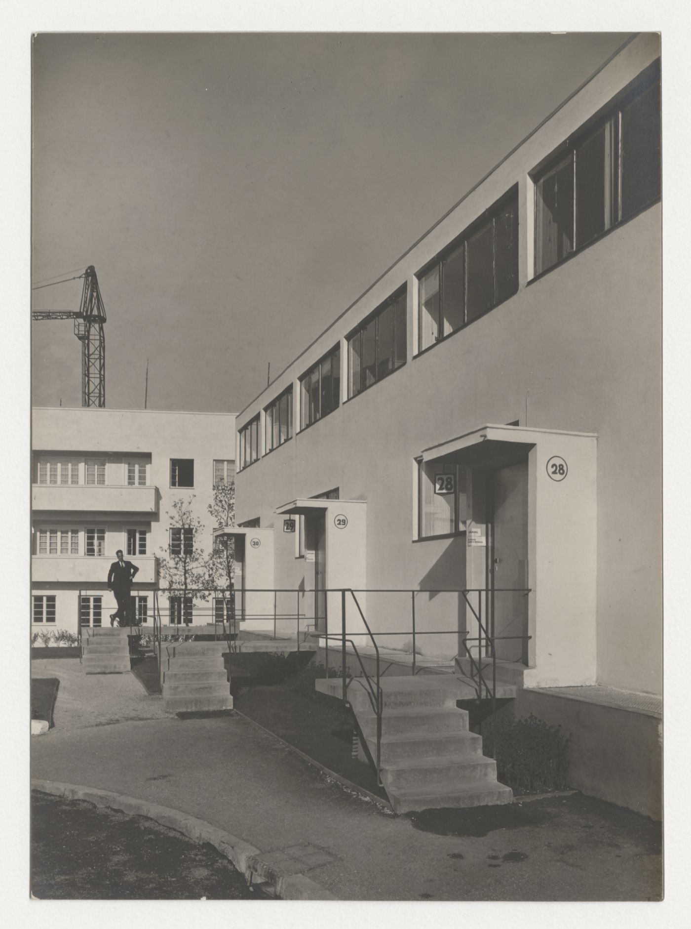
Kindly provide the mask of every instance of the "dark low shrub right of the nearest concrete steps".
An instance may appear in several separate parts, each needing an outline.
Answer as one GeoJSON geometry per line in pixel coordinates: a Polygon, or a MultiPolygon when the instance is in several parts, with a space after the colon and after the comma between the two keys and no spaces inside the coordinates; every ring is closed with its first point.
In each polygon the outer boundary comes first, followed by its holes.
{"type": "Polygon", "coordinates": [[[497,762],[502,783],[528,792],[563,791],[567,786],[571,738],[561,726],[550,726],[532,713],[527,718],[496,721],[496,744],[491,722],[483,751],[497,762]]]}

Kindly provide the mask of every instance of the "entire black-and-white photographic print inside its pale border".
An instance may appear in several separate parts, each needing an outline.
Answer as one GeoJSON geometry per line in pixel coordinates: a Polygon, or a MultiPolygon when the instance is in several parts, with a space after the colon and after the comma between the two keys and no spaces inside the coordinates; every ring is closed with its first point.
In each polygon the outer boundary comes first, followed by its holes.
{"type": "Polygon", "coordinates": [[[30,915],[664,900],[664,33],[428,28],[26,36],[30,915]]]}

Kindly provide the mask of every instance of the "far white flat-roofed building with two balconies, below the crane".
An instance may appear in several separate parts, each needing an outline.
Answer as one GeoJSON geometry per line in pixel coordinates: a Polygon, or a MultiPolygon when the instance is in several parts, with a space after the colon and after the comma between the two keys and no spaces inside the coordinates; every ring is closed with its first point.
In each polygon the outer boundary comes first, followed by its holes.
{"type": "Polygon", "coordinates": [[[119,548],[139,569],[137,622],[151,622],[158,557],[183,543],[166,511],[191,500],[205,527],[194,542],[211,550],[207,506],[215,484],[234,479],[234,427],[233,413],[34,409],[33,632],[75,633],[78,617],[83,626],[109,624],[108,570],[119,548]]]}

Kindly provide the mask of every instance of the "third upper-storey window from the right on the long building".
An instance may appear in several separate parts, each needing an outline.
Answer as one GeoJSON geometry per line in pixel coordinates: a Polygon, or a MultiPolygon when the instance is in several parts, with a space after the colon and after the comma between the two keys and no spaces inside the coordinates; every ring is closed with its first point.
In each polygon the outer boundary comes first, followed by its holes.
{"type": "Polygon", "coordinates": [[[348,398],[406,362],[406,288],[378,307],[348,335],[348,398]]]}

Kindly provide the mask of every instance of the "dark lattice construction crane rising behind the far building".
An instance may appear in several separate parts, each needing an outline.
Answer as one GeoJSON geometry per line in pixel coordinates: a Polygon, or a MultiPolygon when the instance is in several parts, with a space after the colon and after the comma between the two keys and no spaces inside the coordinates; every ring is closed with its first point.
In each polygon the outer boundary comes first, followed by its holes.
{"type": "MultiPolygon", "coordinates": [[[[54,284],[77,281],[81,278],[84,278],[84,286],[78,310],[36,309],[32,311],[32,319],[74,320],[74,334],[82,343],[82,406],[105,407],[106,340],[103,323],[106,321],[106,309],[98,289],[96,268],[89,265],[84,274],[68,278],[66,281],[42,284],[40,287],[52,287],[54,284]]],[[[34,287],[33,290],[39,290],[40,287],[34,287]]]]}

